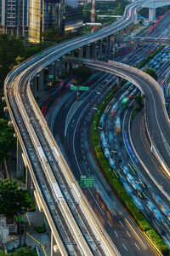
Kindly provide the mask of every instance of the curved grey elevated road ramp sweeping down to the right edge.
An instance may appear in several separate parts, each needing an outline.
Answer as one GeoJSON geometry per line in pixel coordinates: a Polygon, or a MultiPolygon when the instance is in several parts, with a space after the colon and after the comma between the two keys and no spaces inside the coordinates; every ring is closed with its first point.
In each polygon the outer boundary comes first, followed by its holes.
{"type": "MultiPolygon", "coordinates": [[[[67,60],[69,61],[69,59],[67,60]]],[[[71,60],[107,73],[114,73],[135,84],[145,96],[145,122],[152,142],[151,150],[160,159],[161,165],[170,176],[170,120],[160,85],[143,71],[116,61],[109,63],[91,60],[71,60]]]]}

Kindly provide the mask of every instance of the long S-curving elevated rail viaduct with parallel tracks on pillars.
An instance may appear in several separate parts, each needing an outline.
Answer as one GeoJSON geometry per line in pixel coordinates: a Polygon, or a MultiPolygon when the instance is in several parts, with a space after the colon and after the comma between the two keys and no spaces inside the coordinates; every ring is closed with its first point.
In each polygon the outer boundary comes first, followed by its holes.
{"type": "Polygon", "coordinates": [[[31,174],[37,205],[39,210],[44,212],[52,230],[54,252],[59,249],[62,255],[119,253],[89,207],[58,145],[54,142],[34,96],[37,90],[43,90],[43,69],[48,67],[48,72],[53,72],[54,76],[54,67],[62,69],[63,55],[77,49],[81,56],[82,47],[85,46],[88,56],[89,46],[92,45],[95,58],[96,42],[101,42],[104,38],[107,51],[111,52],[116,35],[130,26],[144,2],[146,1],[141,0],[130,4],[121,20],[99,32],[58,44],[31,57],[9,73],[4,83],[7,109],[22,148],[27,185],[31,187],[31,174]]]}

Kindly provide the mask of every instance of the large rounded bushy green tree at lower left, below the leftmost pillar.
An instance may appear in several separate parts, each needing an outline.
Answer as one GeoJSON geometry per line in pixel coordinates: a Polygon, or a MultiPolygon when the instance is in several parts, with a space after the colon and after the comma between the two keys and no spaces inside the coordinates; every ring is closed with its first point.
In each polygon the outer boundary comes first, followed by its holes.
{"type": "Polygon", "coordinates": [[[27,190],[19,188],[16,181],[3,179],[0,181],[0,214],[13,219],[14,215],[21,215],[30,207],[27,201],[27,190]]]}

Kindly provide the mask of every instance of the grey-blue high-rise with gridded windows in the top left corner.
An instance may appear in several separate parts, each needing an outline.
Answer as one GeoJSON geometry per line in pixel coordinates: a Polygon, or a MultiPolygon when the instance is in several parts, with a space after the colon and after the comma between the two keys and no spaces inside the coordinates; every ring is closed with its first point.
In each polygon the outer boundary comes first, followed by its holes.
{"type": "Polygon", "coordinates": [[[0,0],[0,32],[28,35],[29,0],[0,0]]]}

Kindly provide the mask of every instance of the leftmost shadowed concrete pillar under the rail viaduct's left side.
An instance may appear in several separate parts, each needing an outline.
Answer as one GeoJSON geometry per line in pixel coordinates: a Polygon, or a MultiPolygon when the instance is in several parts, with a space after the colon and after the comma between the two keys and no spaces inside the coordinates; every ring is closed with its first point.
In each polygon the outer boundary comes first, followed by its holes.
{"type": "Polygon", "coordinates": [[[24,176],[24,161],[22,159],[22,148],[20,147],[19,139],[17,138],[17,152],[16,152],[16,177],[24,176]]]}

